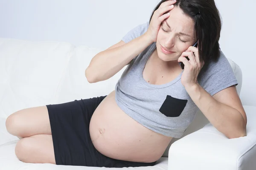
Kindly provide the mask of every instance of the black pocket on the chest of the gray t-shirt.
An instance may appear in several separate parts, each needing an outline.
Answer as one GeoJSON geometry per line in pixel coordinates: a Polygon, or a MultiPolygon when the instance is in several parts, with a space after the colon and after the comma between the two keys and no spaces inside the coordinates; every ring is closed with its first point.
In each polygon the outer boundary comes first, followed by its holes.
{"type": "Polygon", "coordinates": [[[159,111],[167,117],[178,117],[184,110],[187,102],[188,100],[176,99],[167,95],[159,111]]]}

